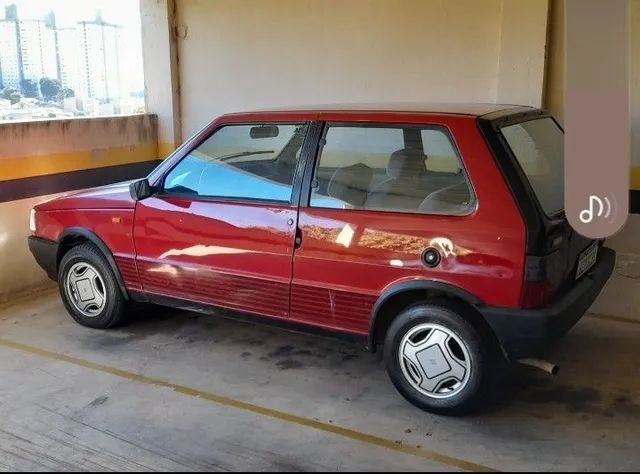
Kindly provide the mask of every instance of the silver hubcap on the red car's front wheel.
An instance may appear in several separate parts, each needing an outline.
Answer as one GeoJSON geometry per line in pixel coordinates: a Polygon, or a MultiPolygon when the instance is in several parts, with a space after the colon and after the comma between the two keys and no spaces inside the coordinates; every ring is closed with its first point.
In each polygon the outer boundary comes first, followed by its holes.
{"type": "Polygon", "coordinates": [[[107,303],[105,284],[90,264],[78,262],[67,273],[65,291],[69,301],[84,316],[98,316],[107,303]]]}

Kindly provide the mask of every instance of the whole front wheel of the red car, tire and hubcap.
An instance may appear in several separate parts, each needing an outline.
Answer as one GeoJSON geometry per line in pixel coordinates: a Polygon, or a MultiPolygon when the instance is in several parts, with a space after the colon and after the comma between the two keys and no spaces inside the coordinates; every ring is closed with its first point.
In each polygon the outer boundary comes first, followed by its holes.
{"type": "Polygon", "coordinates": [[[126,301],[104,255],[91,244],[69,250],[58,270],[69,314],[83,326],[106,329],[122,322],[126,301]]]}

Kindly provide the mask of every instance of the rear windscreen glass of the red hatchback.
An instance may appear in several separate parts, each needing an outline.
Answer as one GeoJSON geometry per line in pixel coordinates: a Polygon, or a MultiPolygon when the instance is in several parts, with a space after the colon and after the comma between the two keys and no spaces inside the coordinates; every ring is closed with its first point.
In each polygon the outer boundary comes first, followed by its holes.
{"type": "Polygon", "coordinates": [[[564,208],[564,132],[545,117],[501,128],[502,135],[551,216],[564,208]]]}

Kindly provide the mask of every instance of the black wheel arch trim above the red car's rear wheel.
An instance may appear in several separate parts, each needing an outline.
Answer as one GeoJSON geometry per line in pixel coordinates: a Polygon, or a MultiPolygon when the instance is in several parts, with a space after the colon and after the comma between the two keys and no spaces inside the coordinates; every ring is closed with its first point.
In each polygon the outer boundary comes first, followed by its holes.
{"type": "MultiPolygon", "coordinates": [[[[483,301],[474,294],[449,283],[433,280],[411,280],[395,283],[387,287],[373,305],[369,321],[367,349],[376,352],[378,343],[384,339],[384,334],[400,310],[413,301],[437,297],[451,298],[474,309],[483,304],[483,301]]],[[[478,315],[482,318],[479,312],[478,315]]],[[[482,319],[484,321],[484,318],[482,319]]]]}

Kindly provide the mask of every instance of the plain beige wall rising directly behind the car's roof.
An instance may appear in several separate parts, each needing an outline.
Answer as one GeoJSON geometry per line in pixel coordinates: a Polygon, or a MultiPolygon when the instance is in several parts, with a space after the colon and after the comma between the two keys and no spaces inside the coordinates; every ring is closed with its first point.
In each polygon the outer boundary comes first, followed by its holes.
{"type": "Polygon", "coordinates": [[[546,0],[175,1],[183,137],[271,106],[541,104],[546,0]]]}

